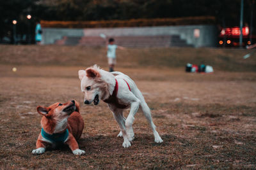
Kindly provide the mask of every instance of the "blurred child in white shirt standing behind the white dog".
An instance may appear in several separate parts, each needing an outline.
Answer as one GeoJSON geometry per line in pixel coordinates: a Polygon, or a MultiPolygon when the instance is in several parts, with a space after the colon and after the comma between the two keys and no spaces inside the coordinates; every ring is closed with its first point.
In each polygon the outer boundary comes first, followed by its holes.
{"type": "Polygon", "coordinates": [[[116,48],[120,50],[125,50],[123,46],[117,46],[114,44],[115,39],[109,38],[108,45],[107,45],[107,57],[108,57],[108,65],[109,65],[109,72],[114,71],[114,67],[116,64],[116,48]]]}

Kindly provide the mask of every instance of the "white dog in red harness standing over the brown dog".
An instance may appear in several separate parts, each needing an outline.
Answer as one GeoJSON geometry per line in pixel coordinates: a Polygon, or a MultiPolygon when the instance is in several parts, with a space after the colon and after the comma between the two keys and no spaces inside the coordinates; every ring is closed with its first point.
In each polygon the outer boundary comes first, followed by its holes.
{"type": "Polygon", "coordinates": [[[129,76],[120,72],[104,71],[94,65],[86,70],[79,70],[79,79],[81,80],[81,91],[84,93],[84,104],[94,103],[97,105],[100,100],[108,103],[110,110],[120,126],[118,137],[123,136],[124,148],[131,146],[130,141],[134,139],[132,123],[134,115],[141,108],[148,123],[152,127],[155,142],[162,143],[163,140],[156,131],[156,126],[152,122],[150,109],[145,103],[138,87],[129,76]],[[114,76],[113,74],[117,74],[114,76]],[[123,110],[131,107],[128,117],[125,119],[123,110]]]}

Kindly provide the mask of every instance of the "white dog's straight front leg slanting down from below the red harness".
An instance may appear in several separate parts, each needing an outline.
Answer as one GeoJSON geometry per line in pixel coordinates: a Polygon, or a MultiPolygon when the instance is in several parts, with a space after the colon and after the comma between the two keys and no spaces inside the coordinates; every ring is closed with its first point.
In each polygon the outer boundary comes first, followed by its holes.
{"type": "MultiPolygon", "coordinates": [[[[110,107],[109,107],[110,108],[110,107]]],[[[112,109],[111,109],[112,110],[112,109]]],[[[124,124],[124,121],[123,121],[123,116],[122,116],[122,110],[114,110],[113,111],[113,115],[115,117],[115,120],[116,122],[118,123],[120,129],[121,129],[121,132],[122,132],[122,136],[124,138],[124,143],[123,143],[123,147],[124,148],[128,148],[131,146],[131,143],[128,139],[128,136],[127,136],[127,132],[126,132],[126,129],[125,129],[125,124],[124,124]]]]}

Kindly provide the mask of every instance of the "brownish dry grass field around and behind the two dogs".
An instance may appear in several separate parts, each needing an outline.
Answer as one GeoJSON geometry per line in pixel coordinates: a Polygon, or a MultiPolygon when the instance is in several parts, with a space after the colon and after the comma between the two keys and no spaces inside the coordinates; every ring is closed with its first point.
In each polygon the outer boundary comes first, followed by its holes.
{"type": "MultiPolygon", "coordinates": [[[[256,56],[248,50],[132,48],[116,70],[138,85],[152,110],[154,136],[138,112],[135,139],[122,148],[106,103],[84,105],[77,71],[108,69],[104,48],[0,46],[0,169],[256,169],[256,56]],[[213,74],[185,73],[187,62],[213,74]],[[13,72],[12,67],[17,67],[13,72]],[[36,106],[76,99],[85,122],[74,156],[67,146],[32,155],[40,132],[36,106]]],[[[128,111],[125,112],[127,115],[128,111]]]]}

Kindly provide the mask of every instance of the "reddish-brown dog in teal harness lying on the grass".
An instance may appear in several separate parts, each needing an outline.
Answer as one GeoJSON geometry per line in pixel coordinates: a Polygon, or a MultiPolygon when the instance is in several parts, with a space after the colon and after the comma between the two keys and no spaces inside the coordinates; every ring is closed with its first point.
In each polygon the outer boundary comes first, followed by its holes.
{"type": "Polygon", "coordinates": [[[55,146],[65,143],[74,155],[83,155],[85,152],[79,150],[77,139],[82,135],[84,121],[79,113],[79,103],[68,101],[67,103],[54,103],[49,107],[38,106],[38,113],[42,115],[42,130],[36,141],[36,150],[33,154],[45,152],[47,144],[55,146]]]}

